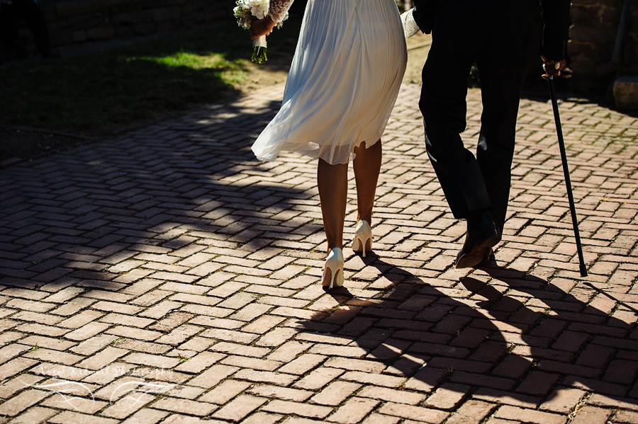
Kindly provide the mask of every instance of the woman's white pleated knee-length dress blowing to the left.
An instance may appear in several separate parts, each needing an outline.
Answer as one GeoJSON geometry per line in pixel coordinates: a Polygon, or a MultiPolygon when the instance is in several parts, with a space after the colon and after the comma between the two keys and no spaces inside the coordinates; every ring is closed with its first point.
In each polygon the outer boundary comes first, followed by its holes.
{"type": "Polygon", "coordinates": [[[381,138],[407,60],[395,0],[309,0],[281,109],[252,151],[347,164],[354,147],[381,138]]]}

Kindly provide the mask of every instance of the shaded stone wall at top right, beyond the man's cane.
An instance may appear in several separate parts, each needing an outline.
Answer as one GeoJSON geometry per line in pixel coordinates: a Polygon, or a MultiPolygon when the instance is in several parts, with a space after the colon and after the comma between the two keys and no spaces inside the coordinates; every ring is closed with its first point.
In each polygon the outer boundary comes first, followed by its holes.
{"type": "Polygon", "coordinates": [[[638,0],[631,1],[619,72],[599,75],[598,65],[612,57],[623,0],[572,0],[567,52],[574,90],[603,93],[618,74],[638,75],[638,0]]]}

